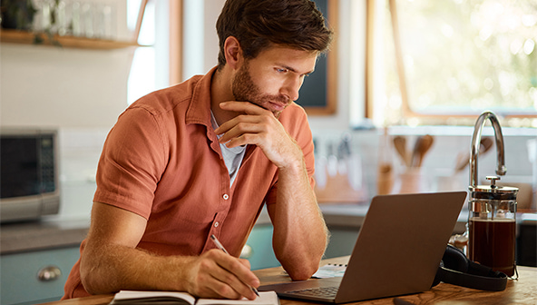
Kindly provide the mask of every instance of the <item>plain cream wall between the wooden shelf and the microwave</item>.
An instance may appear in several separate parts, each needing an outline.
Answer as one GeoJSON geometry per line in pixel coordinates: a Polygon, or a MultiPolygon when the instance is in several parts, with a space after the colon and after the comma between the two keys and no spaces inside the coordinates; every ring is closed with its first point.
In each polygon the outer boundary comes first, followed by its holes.
{"type": "Polygon", "coordinates": [[[3,126],[110,127],[127,105],[132,49],[2,44],[3,126]]]}

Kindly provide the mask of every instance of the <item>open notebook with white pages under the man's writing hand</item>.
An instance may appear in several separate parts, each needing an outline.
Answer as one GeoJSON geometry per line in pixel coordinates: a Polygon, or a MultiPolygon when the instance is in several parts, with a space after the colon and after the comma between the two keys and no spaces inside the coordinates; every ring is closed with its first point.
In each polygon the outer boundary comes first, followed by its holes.
{"type": "Polygon", "coordinates": [[[138,291],[122,290],[115,294],[111,305],[279,305],[278,295],[274,291],[259,292],[256,300],[220,300],[220,299],[198,299],[187,292],[177,291],[138,291]]]}

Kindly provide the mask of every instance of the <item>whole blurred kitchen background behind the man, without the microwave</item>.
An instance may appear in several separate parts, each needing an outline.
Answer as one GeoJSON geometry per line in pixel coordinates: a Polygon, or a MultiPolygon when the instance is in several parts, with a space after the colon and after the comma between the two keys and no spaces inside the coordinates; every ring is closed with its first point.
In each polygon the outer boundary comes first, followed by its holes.
{"type": "MultiPolygon", "coordinates": [[[[467,190],[474,123],[502,125],[517,196],[517,260],[537,265],[537,6],[534,0],[316,0],[336,31],[306,79],[317,199],[348,255],[378,193],[467,190]]],[[[89,226],[107,133],[139,97],[217,64],[224,0],[3,0],[0,128],[57,130],[60,210],[0,227],[2,304],[58,300],[89,226]],[[31,4],[15,20],[7,5],[31,4]],[[27,14],[26,14],[27,13],[27,14]],[[51,267],[52,266],[52,267],[51,267]]],[[[18,6],[17,6],[18,7],[18,6]]],[[[479,179],[494,175],[483,129],[479,179]]],[[[463,233],[464,211],[454,228],[463,233]]],[[[261,213],[242,257],[277,266],[261,213]]]]}

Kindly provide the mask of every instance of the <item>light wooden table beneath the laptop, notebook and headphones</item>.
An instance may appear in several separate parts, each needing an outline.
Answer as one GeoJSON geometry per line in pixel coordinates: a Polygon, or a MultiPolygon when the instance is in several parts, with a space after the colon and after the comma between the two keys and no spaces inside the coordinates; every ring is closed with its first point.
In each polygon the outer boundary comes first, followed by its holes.
{"type": "MultiPolygon", "coordinates": [[[[328,259],[322,262],[325,263],[346,263],[348,256],[328,259]]],[[[261,280],[261,284],[274,284],[284,281],[289,281],[289,277],[285,275],[281,267],[263,269],[254,271],[261,280]]],[[[507,287],[503,291],[483,291],[473,290],[454,286],[451,284],[440,283],[433,289],[397,298],[386,298],[378,300],[366,300],[349,304],[369,304],[369,305],[385,305],[385,304],[442,304],[442,305],[467,305],[467,304],[537,304],[537,268],[518,267],[519,280],[509,280],[507,287]],[[400,302],[395,303],[395,299],[400,302]]],[[[112,300],[113,295],[97,295],[87,298],[62,300],[46,303],[48,305],[103,305],[108,304],[112,300]]],[[[310,303],[298,300],[280,300],[281,305],[306,305],[319,304],[310,303]]]]}

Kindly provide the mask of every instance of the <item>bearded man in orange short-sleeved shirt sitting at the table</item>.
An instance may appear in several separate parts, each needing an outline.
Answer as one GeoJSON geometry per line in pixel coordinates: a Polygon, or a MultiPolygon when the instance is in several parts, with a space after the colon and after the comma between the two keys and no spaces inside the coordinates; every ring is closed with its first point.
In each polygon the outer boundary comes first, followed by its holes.
{"type": "Polygon", "coordinates": [[[64,299],[118,290],[254,299],[259,279],[238,257],[265,203],[289,276],[317,271],[327,229],[311,132],[293,101],[332,33],[308,0],[228,0],[217,30],[217,67],[132,103],[109,133],[64,299]]]}

